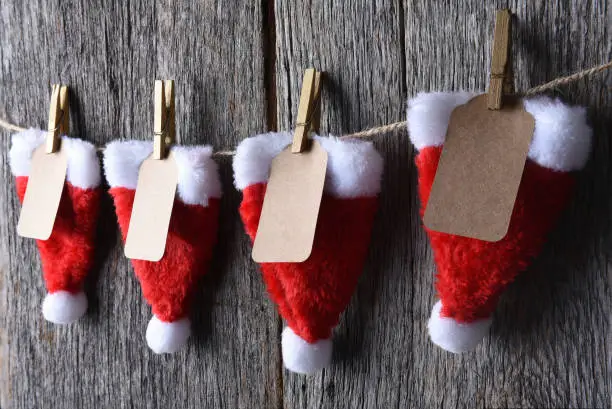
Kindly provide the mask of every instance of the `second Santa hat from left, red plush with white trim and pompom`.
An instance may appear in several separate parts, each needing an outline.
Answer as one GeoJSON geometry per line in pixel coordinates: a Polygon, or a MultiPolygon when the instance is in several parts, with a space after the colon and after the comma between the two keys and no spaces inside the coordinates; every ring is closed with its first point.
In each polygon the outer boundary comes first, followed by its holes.
{"type": "MultiPolygon", "coordinates": [[[[121,235],[127,237],[142,162],[150,142],[112,142],[104,172],[115,202],[121,235]]],[[[191,333],[189,304],[197,279],[206,274],[217,239],[221,182],[210,146],[175,146],[178,186],[166,250],[160,261],[132,260],[144,297],[152,306],[147,343],[155,353],[179,350],[191,333]]]]}

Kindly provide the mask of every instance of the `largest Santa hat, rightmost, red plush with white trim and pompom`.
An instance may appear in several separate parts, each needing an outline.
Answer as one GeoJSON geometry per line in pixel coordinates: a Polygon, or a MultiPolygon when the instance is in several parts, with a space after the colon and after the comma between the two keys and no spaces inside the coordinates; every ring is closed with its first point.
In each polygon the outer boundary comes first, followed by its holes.
{"type": "MultiPolygon", "coordinates": [[[[419,153],[421,216],[442,152],[451,112],[476,94],[419,94],[408,104],[408,132],[419,153]]],[[[474,349],[488,333],[500,294],[540,252],[547,233],[568,203],[572,171],[590,153],[591,129],[586,110],[559,100],[523,101],[535,118],[535,131],[506,236],[498,242],[432,231],[426,228],[438,269],[440,301],[429,320],[431,340],[458,353],[474,349]]]]}

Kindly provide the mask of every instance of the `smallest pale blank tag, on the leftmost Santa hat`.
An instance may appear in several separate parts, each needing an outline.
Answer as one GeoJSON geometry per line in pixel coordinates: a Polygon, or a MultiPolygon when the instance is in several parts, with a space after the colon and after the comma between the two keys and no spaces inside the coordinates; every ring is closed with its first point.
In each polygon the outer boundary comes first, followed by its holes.
{"type": "Polygon", "coordinates": [[[34,151],[17,234],[39,240],[51,236],[64,190],[67,164],[61,147],[55,153],[46,153],[42,144],[34,151]]]}

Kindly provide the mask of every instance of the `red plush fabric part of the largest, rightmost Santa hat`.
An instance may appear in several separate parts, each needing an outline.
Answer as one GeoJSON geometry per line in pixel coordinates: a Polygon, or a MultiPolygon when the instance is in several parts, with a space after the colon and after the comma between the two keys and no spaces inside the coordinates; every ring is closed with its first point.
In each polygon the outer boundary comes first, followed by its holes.
{"type": "MultiPolygon", "coordinates": [[[[442,147],[429,147],[416,158],[421,217],[441,153],[442,147]]],[[[438,269],[441,315],[459,322],[490,317],[503,290],[540,252],[573,185],[571,174],[527,160],[508,233],[502,240],[486,242],[425,228],[438,269]]]]}

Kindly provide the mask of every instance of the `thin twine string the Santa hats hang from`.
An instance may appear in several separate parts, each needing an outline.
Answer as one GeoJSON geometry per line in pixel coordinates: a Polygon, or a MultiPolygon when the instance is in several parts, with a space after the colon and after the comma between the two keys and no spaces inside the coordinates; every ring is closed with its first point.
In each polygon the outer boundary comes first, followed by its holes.
{"type": "MultiPolygon", "coordinates": [[[[529,88],[528,90],[519,93],[518,95],[520,96],[529,96],[529,95],[535,95],[535,94],[540,94],[542,92],[545,91],[550,91],[552,89],[555,89],[561,85],[567,85],[570,84],[572,82],[577,82],[580,81],[584,78],[587,77],[591,77],[593,75],[599,74],[603,71],[606,71],[608,69],[612,68],[612,61],[607,62],[605,64],[601,64],[595,67],[591,67],[591,68],[587,68],[586,70],[582,70],[579,72],[576,72],[574,74],[565,76],[565,77],[559,77],[559,78],[555,78],[552,81],[546,82],[544,84],[541,85],[537,85],[533,88],[529,88]]],[[[316,109],[318,108],[318,105],[320,104],[320,97],[317,98],[317,101],[315,102],[315,109],[313,109],[313,112],[311,113],[311,116],[309,118],[307,118],[306,123],[310,123],[312,116],[314,115],[314,112],[316,112],[316,109]]],[[[0,118],[0,127],[7,129],[9,131],[15,131],[15,132],[21,132],[21,131],[25,131],[26,128],[20,127],[18,125],[12,124],[2,118],[0,118]]],[[[382,125],[382,126],[377,126],[375,128],[370,128],[370,129],[365,129],[363,131],[359,131],[359,132],[355,132],[352,134],[348,134],[348,135],[342,135],[340,136],[340,139],[348,139],[348,138],[370,138],[370,137],[374,137],[374,136],[379,136],[379,135],[383,135],[383,134],[387,134],[387,133],[392,133],[392,132],[397,132],[397,131],[402,131],[402,130],[406,130],[406,121],[400,121],[400,122],[394,122],[392,124],[387,124],[387,125],[382,125]]],[[[162,130],[162,133],[164,131],[162,130]]],[[[99,147],[98,151],[103,151],[104,148],[103,147],[99,147]]],[[[216,157],[222,157],[222,156],[233,156],[236,154],[236,151],[230,151],[230,150],[226,150],[226,151],[218,151],[213,153],[213,156],[216,157]]]]}

